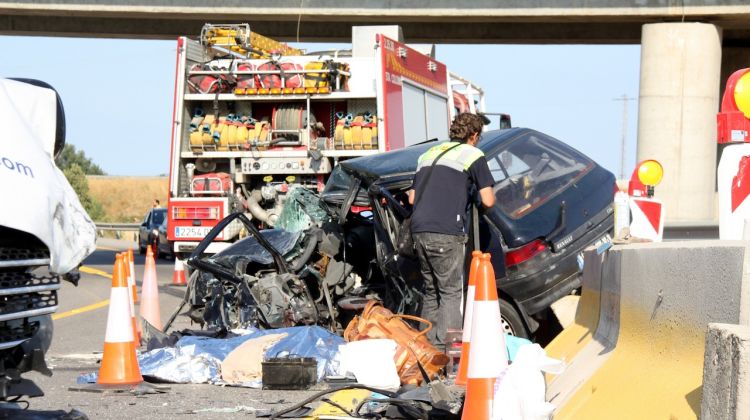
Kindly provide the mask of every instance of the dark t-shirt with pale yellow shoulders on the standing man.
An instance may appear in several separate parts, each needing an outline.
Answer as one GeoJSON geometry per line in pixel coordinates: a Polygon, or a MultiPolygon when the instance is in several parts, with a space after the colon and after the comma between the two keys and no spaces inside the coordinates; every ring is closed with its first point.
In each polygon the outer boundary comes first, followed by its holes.
{"type": "Polygon", "coordinates": [[[468,144],[448,151],[433,168],[432,162],[441,151],[439,148],[445,150],[455,144],[437,145],[419,158],[419,169],[413,185],[417,201],[411,218],[412,232],[464,235],[472,184],[476,185],[478,191],[494,183],[484,154],[468,144]],[[431,170],[434,173],[427,185],[422,185],[431,170]]]}

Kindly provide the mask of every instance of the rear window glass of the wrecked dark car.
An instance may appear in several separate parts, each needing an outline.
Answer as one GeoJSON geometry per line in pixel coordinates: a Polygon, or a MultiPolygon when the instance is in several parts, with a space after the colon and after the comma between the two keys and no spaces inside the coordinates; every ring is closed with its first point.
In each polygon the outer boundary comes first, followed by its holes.
{"type": "Polygon", "coordinates": [[[512,140],[486,158],[497,205],[514,219],[558,195],[593,167],[591,159],[538,132],[512,140]]]}

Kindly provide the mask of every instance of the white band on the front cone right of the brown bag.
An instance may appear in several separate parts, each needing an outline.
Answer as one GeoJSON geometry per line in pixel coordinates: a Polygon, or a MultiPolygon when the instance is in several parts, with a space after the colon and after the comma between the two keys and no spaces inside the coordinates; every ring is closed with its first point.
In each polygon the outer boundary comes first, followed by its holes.
{"type": "Polygon", "coordinates": [[[508,367],[505,335],[500,321],[500,306],[496,300],[474,301],[469,370],[467,377],[497,378],[508,367]]]}

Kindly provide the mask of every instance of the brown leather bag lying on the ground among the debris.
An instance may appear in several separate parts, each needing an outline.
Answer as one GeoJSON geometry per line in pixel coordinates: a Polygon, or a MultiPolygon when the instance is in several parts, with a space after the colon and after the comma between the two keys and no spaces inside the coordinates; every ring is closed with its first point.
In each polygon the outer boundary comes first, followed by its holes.
{"type": "Polygon", "coordinates": [[[344,340],[358,341],[371,338],[390,338],[396,342],[396,371],[401,384],[419,385],[423,381],[422,373],[416,361],[422,364],[430,378],[435,377],[440,369],[448,363],[448,356],[433,346],[425,334],[432,329],[426,319],[411,315],[394,314],[382,303],[371,300],[367,302],[360,316],[346,326],[344,340]],[[427,324],[427,328],[417,331],[402,320],[411,319],[427,324]]]}

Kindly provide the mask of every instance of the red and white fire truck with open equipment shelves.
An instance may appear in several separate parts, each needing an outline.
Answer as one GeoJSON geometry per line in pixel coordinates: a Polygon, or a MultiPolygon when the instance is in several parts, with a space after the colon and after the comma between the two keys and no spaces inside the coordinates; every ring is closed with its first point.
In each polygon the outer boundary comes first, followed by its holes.
{"type": "Polygon", "coordinates": [[[180,258],[230,213],[273,227],[292,186],[321,191],[340,160],[447,138],[456,112],[483,101],[397,26],[354,27],[351,50],[306,54],[247,24],[207,24],[177,41],[167,238],[180,258]]]}

